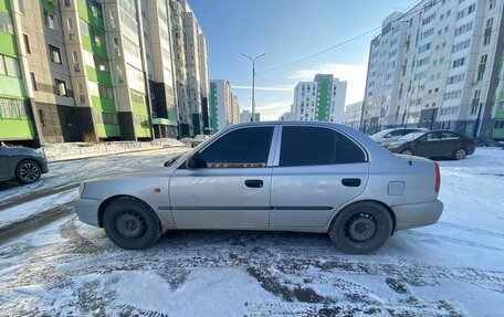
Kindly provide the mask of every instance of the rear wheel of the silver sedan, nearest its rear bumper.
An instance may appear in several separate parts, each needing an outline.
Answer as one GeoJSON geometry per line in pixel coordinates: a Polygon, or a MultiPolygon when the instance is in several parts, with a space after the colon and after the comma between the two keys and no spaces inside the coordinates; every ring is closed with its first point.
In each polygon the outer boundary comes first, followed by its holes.
{"type": "Polygon", "coordinates": [[[345,253],[368,254],[380,249],[392,234],[388,210],[371,201],[350,204],[334,218],[328,234],[345,253]]]}

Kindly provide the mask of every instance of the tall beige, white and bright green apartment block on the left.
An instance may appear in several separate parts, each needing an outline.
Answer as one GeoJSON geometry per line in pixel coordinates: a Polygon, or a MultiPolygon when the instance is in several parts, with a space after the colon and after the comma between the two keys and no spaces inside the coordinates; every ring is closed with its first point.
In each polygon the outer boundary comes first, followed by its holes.
{"type": "Polygon", "coordinates": [[[207,43],[183,0],[0,0],[0,55],[2,141],[144,140],[208,126],[207,43]]]}

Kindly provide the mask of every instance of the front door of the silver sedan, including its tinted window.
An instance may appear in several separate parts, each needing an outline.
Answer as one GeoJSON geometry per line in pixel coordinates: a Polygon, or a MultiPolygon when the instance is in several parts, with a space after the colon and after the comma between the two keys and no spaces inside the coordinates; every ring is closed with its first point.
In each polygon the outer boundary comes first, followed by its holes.
{"type": "Polygon", "coordinates": [[[170,178],[178,229],[266,228],[275,126],[242,127],[196,154],[198,168],[182,165],[170,178]]]}

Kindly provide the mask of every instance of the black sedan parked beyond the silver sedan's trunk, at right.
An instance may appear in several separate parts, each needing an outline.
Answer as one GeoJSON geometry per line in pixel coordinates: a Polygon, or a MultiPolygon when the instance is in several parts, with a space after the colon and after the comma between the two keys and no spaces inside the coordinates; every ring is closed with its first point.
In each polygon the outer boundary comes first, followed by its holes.
{"type": "Polygon", "coordinates": [[[476,140],[454,131],[433,130],[409,134],[382,146],[396,154],[463,159],[474,152],[476,140]]]}

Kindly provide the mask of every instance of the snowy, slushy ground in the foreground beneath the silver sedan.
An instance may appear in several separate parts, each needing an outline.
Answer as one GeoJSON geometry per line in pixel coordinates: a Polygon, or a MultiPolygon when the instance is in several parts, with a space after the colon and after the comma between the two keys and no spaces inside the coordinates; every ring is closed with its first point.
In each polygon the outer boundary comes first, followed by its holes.
{"type": "Polygon", "coordinates": [[[366,256],[325,234],[244,231],[169,232],[124,251],[64,218],[2,245],[2,314],[500,316],[504,151],[440,165],[440,222],[366,256]]]}

